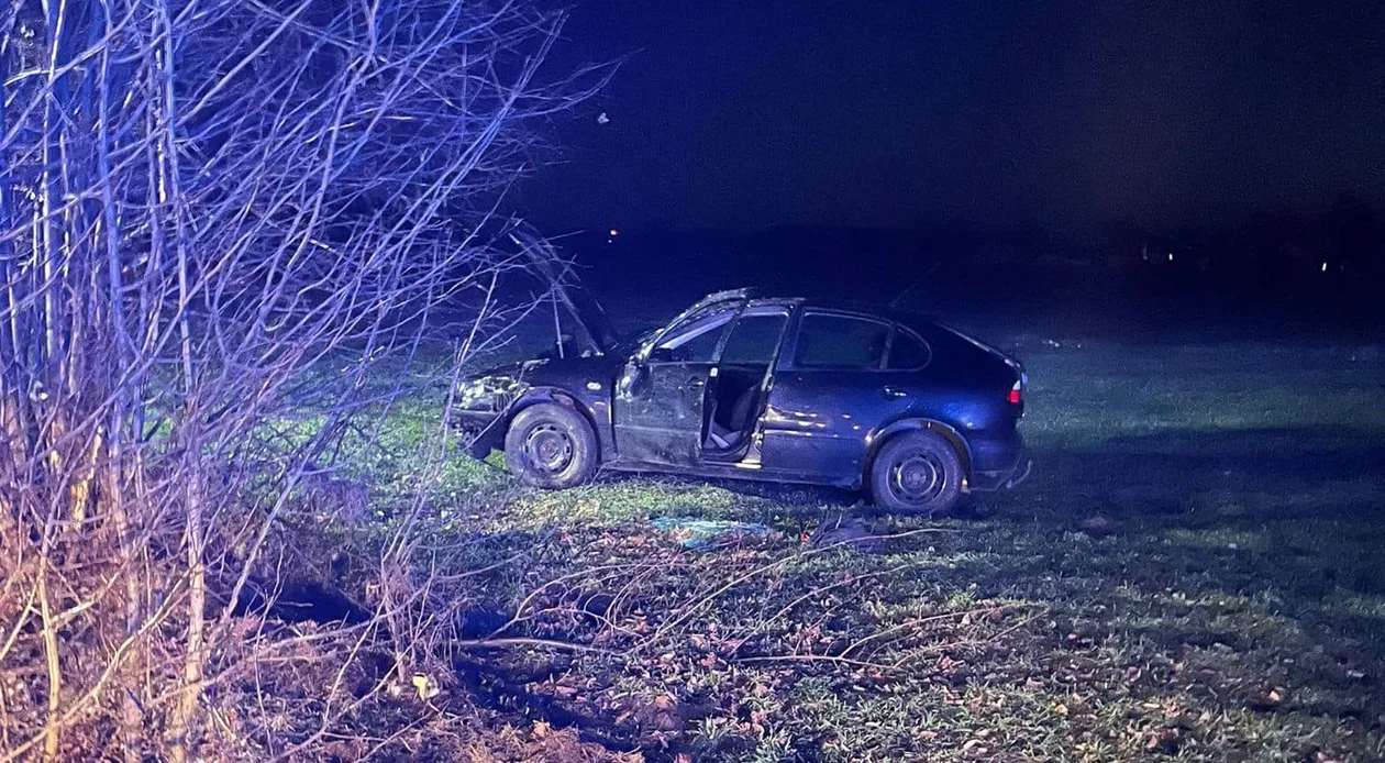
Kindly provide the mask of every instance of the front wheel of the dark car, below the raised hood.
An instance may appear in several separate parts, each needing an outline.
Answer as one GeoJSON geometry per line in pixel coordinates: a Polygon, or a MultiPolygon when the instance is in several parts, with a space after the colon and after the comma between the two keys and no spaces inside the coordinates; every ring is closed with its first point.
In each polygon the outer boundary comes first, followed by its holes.
{"type": "Polygon", "coordinates": [[[525,485],[576,487],[597,471],[597,435],[580,413],[566,406],[529,406],[506,432],[506,465],[525,485]]]}

